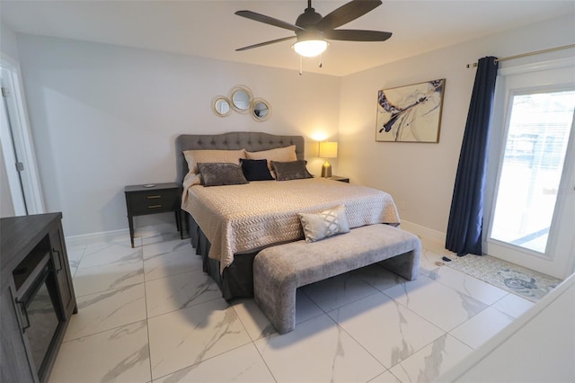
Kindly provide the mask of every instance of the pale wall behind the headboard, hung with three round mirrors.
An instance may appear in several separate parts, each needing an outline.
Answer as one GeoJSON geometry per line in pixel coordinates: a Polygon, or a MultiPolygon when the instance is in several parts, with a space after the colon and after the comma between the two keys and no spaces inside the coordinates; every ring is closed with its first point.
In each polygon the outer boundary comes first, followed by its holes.
{"type": "Polygon", "coordinates": [[[339,77],[22,34],[18,49],[46,209],[63,212],[66,236],[127,228],[124,186],[173,182],[179,134],[337,137],[339,77]],[[240,84],[270,102],[270,120],[213,113],[240,84]]]}

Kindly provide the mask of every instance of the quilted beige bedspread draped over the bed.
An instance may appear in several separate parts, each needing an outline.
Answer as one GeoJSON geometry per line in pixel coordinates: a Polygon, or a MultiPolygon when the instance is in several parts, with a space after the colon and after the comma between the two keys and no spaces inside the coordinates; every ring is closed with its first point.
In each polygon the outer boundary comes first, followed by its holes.
{"type": "Polygon", "coordinates": [[[188,211],[211,243],[209,257],[220,272],[234,254],[304,237],[297,213],[346,206],[349,227],[399,224],[385,191],[324,178],[259,181],[242,185],[190,186],[181,209],[188,211]]]}

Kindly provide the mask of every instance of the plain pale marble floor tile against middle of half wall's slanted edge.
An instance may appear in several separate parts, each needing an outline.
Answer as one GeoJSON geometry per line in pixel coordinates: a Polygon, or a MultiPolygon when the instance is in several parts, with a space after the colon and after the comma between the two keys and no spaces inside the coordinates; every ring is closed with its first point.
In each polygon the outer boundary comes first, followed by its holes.
{"type": "Polygon", "coordinates": [[[510,325],[513,320],[512,316],[508,316],[495,308],[487,307],[473,318],[458,325],[449,334],[476,350],[503,328],[510,325]]]}

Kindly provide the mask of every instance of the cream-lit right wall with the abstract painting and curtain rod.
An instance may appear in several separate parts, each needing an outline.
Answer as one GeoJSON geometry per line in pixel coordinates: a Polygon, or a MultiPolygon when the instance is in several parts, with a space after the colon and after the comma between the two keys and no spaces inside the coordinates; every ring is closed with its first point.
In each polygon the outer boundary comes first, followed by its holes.
{"type": "MultiPolygon", "coordinates": [[[[429,52],[346,76],[341,81],[341,175],[388,191],[404,221],[445,236],[475,69],[485,56],[507,57],[575,42],[573,15],[429,52]],[[380,89],[446,79],[438,144],[376,142],[380,89]]],[[[573,49],[500,63],[500,67],[573,55],[573,49]]],[[[494,127],[500,129],[500,127],[494,127]]]]}

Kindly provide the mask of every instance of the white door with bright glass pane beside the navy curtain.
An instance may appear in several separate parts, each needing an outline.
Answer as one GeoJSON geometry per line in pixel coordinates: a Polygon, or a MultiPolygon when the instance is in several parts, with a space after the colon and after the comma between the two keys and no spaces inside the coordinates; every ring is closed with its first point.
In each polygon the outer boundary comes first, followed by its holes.
{"type": "Polygon", "coordinates": [[[575,67],[504,69],[497,81],[485,253],[563,279],[575,266],[575,67]]]}

